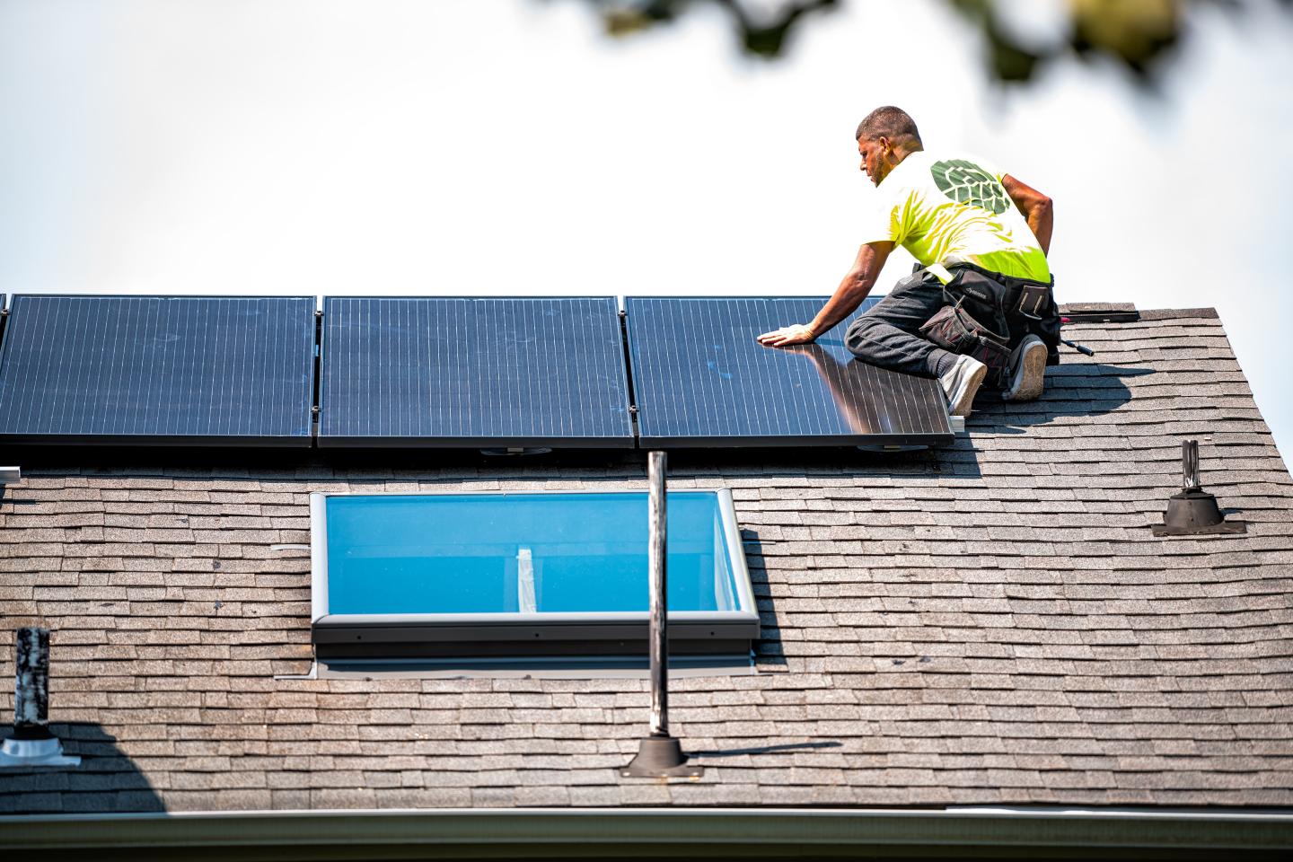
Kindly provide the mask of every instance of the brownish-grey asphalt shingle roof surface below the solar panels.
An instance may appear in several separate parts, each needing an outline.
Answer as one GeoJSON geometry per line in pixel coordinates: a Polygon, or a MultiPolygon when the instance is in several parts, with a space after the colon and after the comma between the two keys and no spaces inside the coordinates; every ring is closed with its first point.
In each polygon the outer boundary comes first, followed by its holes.
{"type": "Polygon", "coordinates": [[[1293,481],[1222,326],[1067,333],[1096,357],[946,450],[675,455],[674,487],[733,490],[764,624],[759,675],[672,681],[698,782],[619,778],[641,680],[277,678],[310,669],[309,556],[272,548],[309,541],[310,491],[641,487],[637,464],[41,455],[0,496],[0,629],[54,629],[84,762],[0,773],[0,813],[1288,806],[1293,481]],[[1246,535],[1151,535],[1187,437],[1246,535]]]}

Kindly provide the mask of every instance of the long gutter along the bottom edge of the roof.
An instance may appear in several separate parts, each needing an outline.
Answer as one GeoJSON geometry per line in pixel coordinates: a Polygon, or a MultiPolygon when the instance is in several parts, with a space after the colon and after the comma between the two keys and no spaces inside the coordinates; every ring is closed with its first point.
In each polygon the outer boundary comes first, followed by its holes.
{"type": "MultiPolygon", "coordinates": [[[[30,858],[1288,858],[1293,813],[1131,809],[396,809],[0,817],[30,858]],[[39,854],[39,856],[37,856],[39,854]]],[[[26,858],[16,856],[14,858],[26,858]]]]}

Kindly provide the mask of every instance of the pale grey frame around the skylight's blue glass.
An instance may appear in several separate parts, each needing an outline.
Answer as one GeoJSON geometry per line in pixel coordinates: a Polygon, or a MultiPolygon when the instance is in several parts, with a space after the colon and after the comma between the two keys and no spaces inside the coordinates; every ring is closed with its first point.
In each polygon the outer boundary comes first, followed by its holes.
{"type": "MultiPolygon", "coordinates": [[[[425,491],[416,494],[310,494],[310,631],[319,658],[411,657],[553,657],[645,655],[649,613],[504,611],[443,614],[332,614],[328,611],[327,500],[388,496],[574,496],[645,491],[590,489],[574,491],[425,491]]],[[[670,653],[749,654],[759,638],[745,548],[729,489],[680,489],[675,494],[714,494],[723,530],[723,551],[734,582],[734,610],[670,611],[670,653]]],[[[645,517],[645,505],[643,507],[645,517]]],[[[718,548],[716,548],[718,551],[718,548]]]]}

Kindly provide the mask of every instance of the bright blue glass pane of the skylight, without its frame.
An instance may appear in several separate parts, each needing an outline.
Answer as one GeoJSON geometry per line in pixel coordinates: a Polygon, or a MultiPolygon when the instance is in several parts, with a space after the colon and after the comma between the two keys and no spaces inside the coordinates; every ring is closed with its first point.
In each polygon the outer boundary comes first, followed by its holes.
{"type": "MultiPolygon", "coordinates": [[[[718,495],[668,495],[668,609],[737,610],[718,495]]],[[[646,494],[327,499],[330,614],[645,611],[646,494]]]]}

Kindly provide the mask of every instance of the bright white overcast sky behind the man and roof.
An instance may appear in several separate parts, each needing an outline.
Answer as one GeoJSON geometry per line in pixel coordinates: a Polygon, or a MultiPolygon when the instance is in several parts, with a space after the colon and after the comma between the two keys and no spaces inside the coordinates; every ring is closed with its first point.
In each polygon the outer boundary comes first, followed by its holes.
{"type": "Polygon", "coordinates": [[[1059,301],[1217,308],[1288,456],[1293,16],[1191,9],[1151,96],[993,84],[936,0],[773,63],[703,4],[612,39],[578,0],[0,0],[0,292],[828,295],[892,103],[1054,198],[1059,301]]]}

